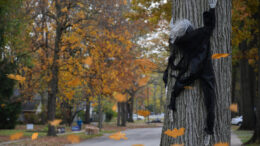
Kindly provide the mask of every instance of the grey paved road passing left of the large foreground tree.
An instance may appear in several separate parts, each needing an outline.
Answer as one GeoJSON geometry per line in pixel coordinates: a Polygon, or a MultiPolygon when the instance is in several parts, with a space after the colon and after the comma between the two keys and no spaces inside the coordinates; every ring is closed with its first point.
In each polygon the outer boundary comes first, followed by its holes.
{"type": "Polygon", "coordinates": [[[126,134],[127,140],[117,141],[105,135],[70,146],[132,146],[133,144],[159,146],[162,128],[130,129],[122,132],[126,134]]]}

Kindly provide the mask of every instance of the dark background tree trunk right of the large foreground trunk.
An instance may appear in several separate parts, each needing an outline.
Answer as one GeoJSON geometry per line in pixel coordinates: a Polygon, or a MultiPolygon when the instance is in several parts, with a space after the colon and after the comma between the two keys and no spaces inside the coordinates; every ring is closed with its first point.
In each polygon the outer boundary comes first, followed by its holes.
{"type": "MultiPolygon", "coordinates": [[[[243,44],[245,45],[245,44],[243,44]]],[[[241,59],[241,95],[242,95],[242,115],[243,122],[240,129],[253,130],[255,126],[255,116],[253,107],[253,93],[252,83],[250,75],[252,74],[252,68],[249,66],[246,58],[241,59]],[[251,71],[250,71],[251,70],[251,71]],[[251,73],[250,73],[251,72],[251,73]]]]}

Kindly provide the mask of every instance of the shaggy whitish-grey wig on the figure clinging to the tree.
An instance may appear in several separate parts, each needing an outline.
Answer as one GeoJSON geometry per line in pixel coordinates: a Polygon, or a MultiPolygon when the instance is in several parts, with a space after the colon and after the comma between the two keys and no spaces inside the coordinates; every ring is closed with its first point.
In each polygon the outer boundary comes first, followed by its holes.
{"type": "Polygon", "coordinates": [[[193,25],[187,19],[177,20],[175,24],[173,24],[173,19],[171,19],[170,22],[171,43],[173,44],[177,37],[183,36],[189,27],[193,28],[193,25]]]}

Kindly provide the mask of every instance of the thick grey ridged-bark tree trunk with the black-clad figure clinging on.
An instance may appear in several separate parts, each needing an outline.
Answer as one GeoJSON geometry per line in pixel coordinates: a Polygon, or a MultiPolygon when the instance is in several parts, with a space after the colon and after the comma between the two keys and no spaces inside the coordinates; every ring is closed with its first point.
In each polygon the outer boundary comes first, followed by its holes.
{"type": "MultiPolygon", "coordinates": [[[[211,39],[212,54],[231,54],[231,1],[218,0],[216,7],[216,28],[211,39]]],[[[207,0],[173,0],[173,20],[187,18],[196,28],[203,23],[203,12],[208,10],[207,0]]],[[[179,56],[180,57],[180,56],[179,56]]],[[[219,143],[230,143],[231,113],[231,57],[213,60],[216,76],[216,109],[214,135],[210,139],[210,146],[219,143]]],[[[168,78],[168,92],[166,103],[170,102],[170,94],[174,85],[174,78],[168,78]]],[[[174,112],[173,122],[169,119],[169,109],[165,105],[165,120],[161,135],[161,146],[184,144],[185,146],[203,146],[204,128],[206,125],[206,107],[204,96],[198,81],[192,90],[184,90],[176,99],[177,111],[174,112]],[[164,132],[167,129],[185,128],[183,136],[173,138],[164,132]]]]}

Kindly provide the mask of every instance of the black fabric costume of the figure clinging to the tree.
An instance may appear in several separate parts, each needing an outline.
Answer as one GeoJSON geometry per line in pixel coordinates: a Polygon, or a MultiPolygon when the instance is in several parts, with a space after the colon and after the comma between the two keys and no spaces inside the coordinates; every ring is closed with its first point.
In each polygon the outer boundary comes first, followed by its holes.
{"type": "MultiPolygon", "coordinates": [[[[215,75],[211,60],[210,37],[215,28],[215,9],[203,13],[204,27],[193,30],[189,27],[185,35],[177,37],[174,43],[170,43],[171,56],[168,60],[168,67],[164,72],[163,80],[167,85],[168,70],[178,70],[178,75],[170,73],[170,77],[176,78],[171,92],[171,102],[168,108],[176,111],[176,97],[199,79],[204,93],[204,100],[207,108],[207,127],[205,131],[213,134],[214,108],[215,108],[215,75]],[[177,51],[181,51],[183,57],[177,65],[174,64],[177,51]],[[189,75],[184,76],[189,70],[189,75]]],[[[171,42],[171,40],[169,41],[171,42]]]]}

